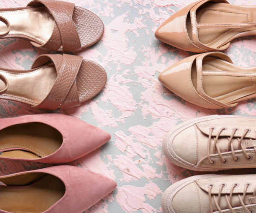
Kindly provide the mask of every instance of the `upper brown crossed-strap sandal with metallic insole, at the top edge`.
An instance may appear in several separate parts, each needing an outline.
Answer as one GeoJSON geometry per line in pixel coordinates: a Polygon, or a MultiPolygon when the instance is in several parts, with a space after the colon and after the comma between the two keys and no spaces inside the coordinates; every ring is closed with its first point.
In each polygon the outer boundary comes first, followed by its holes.
{"type": "Polygon", "coordinates": [[[0,9],[0,38],[24,38],[53,52],[73,52],[98,42],[102,20],[74,3],[34,0],[26,7],[0,9]]]}

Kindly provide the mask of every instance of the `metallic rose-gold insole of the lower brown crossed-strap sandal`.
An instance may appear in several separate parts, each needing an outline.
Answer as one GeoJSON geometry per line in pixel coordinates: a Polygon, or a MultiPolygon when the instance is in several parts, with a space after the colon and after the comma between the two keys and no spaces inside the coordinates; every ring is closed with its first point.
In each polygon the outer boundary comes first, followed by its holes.
{"type": "MultiPolygon", "coordinates": [[[[9,87],[1,98],[21,99],[31,105],[37,105],[47,97],[57,78],[53,63],[32,70],[0,70],[0,74],[9,81],[9,87]]],[[[4,88],[5,84],[0,81],[0,90],[4,88]]]]}

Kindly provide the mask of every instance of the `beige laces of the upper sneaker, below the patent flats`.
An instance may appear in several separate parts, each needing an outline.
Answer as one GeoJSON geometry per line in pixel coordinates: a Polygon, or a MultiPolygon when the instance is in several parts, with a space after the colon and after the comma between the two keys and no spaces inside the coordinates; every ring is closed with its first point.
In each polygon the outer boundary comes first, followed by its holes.
{"type": "MultiPolygon", "coordinates": [[[[212,161],[211,158],[210,158],[210,143],[211,143],[211,138],[212,138],[212,132],[213,132],[214,129],[215,129],[214,127],[211,127],[211,128],[210,128],[209,138],[208,138],[208,147],[207,147],[207,156],[208,156],[208,160],[209,160],[209,162],[210,162],[211,164],[215,164],[215,161],[212,161]]],[[[214,138],[213,150],[214,150],[214,152],[215,152],[215,150],[217,149],[218,155],[220,156],[222,163],[227,163],[227,159],[224,159],[224,158],[223,158],[223,156],[222,156],[222,154],[221,154],[221,150],[220,150],[220,148],[219,148],[219,146],[218,146],[218,144],[217,144],[217,140],[218,140],[219,136],[221,135],[221,132],[223,132],[224,130],[227,130],[227,128],[226,128],[226,127],[222,127],[222,128],[218,131],[216,137],[214,138]]],[[[237,128],[234,128],[233,131],[232,131],[232,133],[231,133],[231,135],[230,135],[230,137],[227,137],[227,139],[228,139],[228,150],[227,150],[227,152],[229,152],[230,149],[231,149],[231,152],[232,152],[234,161],[239,161],[239,160],[240,160],[239,157],[236,157],[236,154],[235,154],[235,151],[234,151],[234,147],[233,147],[233,143],[232,143],[232,139],[234,138],[234,135],[235,135],[235,133],[236,133],[237,130],[238,130],[237,128]]],[[[245,157],[247,158],[247,160],[252,160],[253,157],[252,157],[251,155],[248,155],[248,154],[246,153],[246,150],[245,150],[245,148],[244,148],[244,145],[241,143],[242,140],[244,139],[245,135],[246,135],[248,132],[250,132],[250,129],[244,130],[244,133],[243,133],[243,135],[241,136],[241,138],[238,138],[238,137],[236,137],[236,138],[237,138],[237,140],[238,140],[238,142],[239,142],[239,147],[241,147],[241,149],[243,150],[243,153],[244,153],[245,157]]],[[[250,138],[250,140],[252,141],[251,138],[250,138]]],[[[254,148],[255,153],[256,153],[256,147],[253,147],[253,148],[254,148]]],[[[214,153],[214,154],[215,154],[215,153],[214,153]]]]}

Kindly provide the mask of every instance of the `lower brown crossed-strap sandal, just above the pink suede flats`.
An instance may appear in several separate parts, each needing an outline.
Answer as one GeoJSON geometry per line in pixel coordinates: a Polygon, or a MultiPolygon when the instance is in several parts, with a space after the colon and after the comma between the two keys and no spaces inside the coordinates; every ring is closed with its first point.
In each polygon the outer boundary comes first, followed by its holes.
{"type": "Polygon", "coordinates": [[[30,70],[0,68],[0,99],[39,109],[80,106],[104,88],[105,69],[76,55],[41,55],[30,70]]]}

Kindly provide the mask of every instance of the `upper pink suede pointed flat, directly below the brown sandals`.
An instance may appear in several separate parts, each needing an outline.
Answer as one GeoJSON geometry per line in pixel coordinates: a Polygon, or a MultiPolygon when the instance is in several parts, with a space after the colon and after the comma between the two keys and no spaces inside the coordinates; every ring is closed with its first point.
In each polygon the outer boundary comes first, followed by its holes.
{"type": "Polygon", "coordinates": [[[96,150],[110,138],[108,132],[67,115],[3,118],[0,160],[63,164],[96,150]]]}

